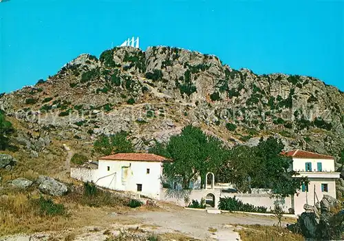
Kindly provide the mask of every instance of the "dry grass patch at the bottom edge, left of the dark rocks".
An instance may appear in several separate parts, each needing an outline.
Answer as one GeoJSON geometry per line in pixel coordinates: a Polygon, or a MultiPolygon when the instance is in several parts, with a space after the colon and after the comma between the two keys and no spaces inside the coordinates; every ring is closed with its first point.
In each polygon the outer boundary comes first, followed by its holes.
{"type": "Polygon", "coordinates": [[[292,233],[288,229],[275,226],[243,225],[241,229],[235,229],[243,241],[301,241],[302,235],[292,233]]]}

